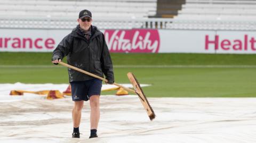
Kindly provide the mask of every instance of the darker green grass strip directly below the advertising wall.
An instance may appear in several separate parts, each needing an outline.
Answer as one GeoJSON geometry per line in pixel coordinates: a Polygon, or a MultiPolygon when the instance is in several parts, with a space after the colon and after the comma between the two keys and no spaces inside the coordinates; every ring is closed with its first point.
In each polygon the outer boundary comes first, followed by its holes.
{"type": "MultiPolygon", "coordinates": [[[[51,65],[51,53],[0,52],[0,65],[51,65]]],[[[111,53],[114,65],[256,65],[250,54],[111,53]]]]}

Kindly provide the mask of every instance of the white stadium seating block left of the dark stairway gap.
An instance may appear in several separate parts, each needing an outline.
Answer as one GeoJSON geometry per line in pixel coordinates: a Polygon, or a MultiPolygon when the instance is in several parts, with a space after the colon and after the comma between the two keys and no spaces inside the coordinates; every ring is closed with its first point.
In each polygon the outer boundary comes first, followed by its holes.
{"type": "MultiPolygon", "coordinates": [[[[126,23],[136,23],[131,21],[156,14],[156,1],[1,0],[0,28],[70,29],[76,26],[78,13],[83,9],[92,12],[93,22],[99,28],[119,28],[121,25],[122,28],[132,28],[126,23]]],[[[138,25],[141,27],[141,23],[138,25]]]]}

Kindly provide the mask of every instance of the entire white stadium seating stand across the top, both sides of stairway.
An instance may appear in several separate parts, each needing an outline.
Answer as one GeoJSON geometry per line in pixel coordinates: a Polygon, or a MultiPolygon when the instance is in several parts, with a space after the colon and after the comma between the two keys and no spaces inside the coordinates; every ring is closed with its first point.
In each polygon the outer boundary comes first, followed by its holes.
{"type": "Polygon", "coordinates": [[[255,0],[1,0],[0,28],[71,29],[88,9],[100,29],[256,30],[255,8],[255,0]]]}

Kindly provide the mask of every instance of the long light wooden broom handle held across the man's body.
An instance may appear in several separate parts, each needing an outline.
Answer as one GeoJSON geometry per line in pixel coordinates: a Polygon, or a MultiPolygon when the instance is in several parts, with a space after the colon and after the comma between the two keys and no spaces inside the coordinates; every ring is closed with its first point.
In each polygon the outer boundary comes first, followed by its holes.
{"type": "MultiPolygon", "coordinates": [[[[92,77],[94,77],[94,78],[97,78],[97,79],[103,80],[103,81],[105,81],[105,82],[108,82],[108,80],[105,79],[105,78],[99,77],[98,75],[92,74],[92,73],[87,72],[87,71],[84,71],[84,70],[82,70],[82,69],[78,69],[78,68],[76,68],[75,66],[72,66],[72,65],[69,65],[69,64],[66,64],[66,63],[63,63],[63,62],[59,62],[59,64],[61,64],[61,65],[63,65],[63,66],[67,66],[68,68],[74,69],[74,70],[76,70],[76,71],[85,73],[85,74],[90,75],[90,76],[92,76],[92,77]]],[[[121,87],[121,88],[123,88],[123,89],[125,89],[125,90],[127,90],[127,91],[130,91],[130,92],[133,92],[134,94],[136,94],[136,91],[135,91],[135,90],[132,90],[132,89],[130,89],[130,88],[127,88],[127,87],[124,87],[124,86],[122,86],[122,85],[119,85],[119,84],[116,83],[116,82],[114,82],[113,85],[118,86],[118,87],[121,87]]]]}

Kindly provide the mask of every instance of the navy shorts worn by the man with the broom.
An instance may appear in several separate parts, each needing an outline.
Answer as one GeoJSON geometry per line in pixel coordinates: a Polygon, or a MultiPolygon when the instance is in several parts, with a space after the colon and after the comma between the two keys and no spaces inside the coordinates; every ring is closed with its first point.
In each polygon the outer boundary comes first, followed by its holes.
{"type": "Polygon", "coordinates": [[[73,81],[70,82],[70,85],[73,101],[87,101],[92,95],[100,95],[102,80],[73,81]]]}

